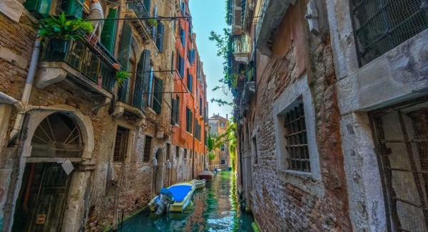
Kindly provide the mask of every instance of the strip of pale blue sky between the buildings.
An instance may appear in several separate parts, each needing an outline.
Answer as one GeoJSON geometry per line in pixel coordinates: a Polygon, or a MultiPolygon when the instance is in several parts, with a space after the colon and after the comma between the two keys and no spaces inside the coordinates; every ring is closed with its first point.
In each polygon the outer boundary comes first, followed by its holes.
{"type": "Polygon", "coordinates": [[[196,34],[196,45],[200,59],[203,62],[203,71],[207,81],[208,117],[213,114],[228,118],[232,116],[232,107],[218,106],[216,102],[211,103],[211,99],[223,99],[232,101],[232,94],[228,91],[225,96],[220,89],[212,91],[215,86],[219,86],[219,79],[223,78],[223,58],[216,56],[218,48],[214,41],[210,41],[210,31],[215,31],[223,35],[223,29],[228,28],[225,22],[225,1],[223,0],[189,0],[190,14],[192,14],[193,31],[196,34]]]}

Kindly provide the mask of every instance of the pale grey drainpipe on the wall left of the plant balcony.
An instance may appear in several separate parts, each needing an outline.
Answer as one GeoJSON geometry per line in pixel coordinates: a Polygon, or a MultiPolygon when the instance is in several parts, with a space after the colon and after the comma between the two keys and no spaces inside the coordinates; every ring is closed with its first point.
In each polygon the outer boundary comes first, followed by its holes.
{"type": "MultiPolygon", "coordinates": [[[[39,33],[37,33],[36,38],[39,38],[39,33]]],[[[34,74],[36,73],[37,62],[39,61],[40,44],[41,41],[39,39],[36,39],[36,42],[34,43],[33,54],[31,56],[29,72],[27,74],[24,86],[24,92],[22,93],[21,97],[21,102],[19,104],[15,104],[15,106],[18,106],[16,107],[18,109],[18,114],[16,115],[14,129],[11,131],[9,141],[7,143],[8,145],[9,143],[11,143],[11,141],[14,140],[16,136],[18,136],[19,132],[21,131],[22,124],[24,123],[26,107],[29,104],[31,88],[33,87],[34,74]]]]}

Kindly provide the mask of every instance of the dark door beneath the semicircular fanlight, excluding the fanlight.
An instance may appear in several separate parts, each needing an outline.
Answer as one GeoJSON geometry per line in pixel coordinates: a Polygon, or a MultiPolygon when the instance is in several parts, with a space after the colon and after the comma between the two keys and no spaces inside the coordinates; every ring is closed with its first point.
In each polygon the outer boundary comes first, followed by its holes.
{"type": "Polygon", "coordinates": [[[12,231],[60,231],[71,175],[61,163],[27,163],[12,231]]]}

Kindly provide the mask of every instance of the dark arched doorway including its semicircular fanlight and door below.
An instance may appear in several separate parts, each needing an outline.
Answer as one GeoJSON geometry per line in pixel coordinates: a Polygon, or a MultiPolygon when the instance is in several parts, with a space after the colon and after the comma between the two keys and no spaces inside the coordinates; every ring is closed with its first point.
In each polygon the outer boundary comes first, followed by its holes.
{"type": "Polygon", "coordinates": [[[39,123],[31,138],[31,159],[25,164],[12,231],[61,231],[76,166],[70,160],[82,153],[81,131],[66,114],[50,114],[39,123]]]}

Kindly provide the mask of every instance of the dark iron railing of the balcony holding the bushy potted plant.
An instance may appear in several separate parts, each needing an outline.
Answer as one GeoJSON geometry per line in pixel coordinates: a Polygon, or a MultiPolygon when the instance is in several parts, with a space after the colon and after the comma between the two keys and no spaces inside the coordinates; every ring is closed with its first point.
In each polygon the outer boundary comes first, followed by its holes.
{"type": "Polygon", "coordinates": [[[118,71],[113,64],[118,64],[118,61],[98,40],[90,36],[85,36],[85,39],[86,41],[81,39],[66,41],[63,51],[56,51],[53,42],[49,41],[45,48],[44,60],[66,62],[94,84],[101,84],[103,89],[112,92],[115,84],[114,75],[118,71]]]}

